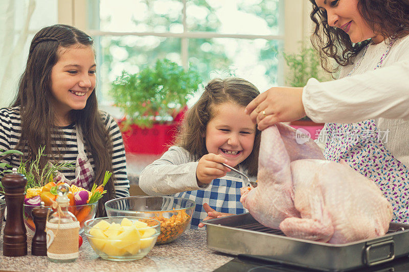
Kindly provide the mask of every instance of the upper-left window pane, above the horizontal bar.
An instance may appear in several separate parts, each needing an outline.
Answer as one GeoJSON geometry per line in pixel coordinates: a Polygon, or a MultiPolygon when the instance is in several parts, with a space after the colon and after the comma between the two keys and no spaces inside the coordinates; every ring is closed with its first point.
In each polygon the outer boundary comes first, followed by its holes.
{"type": "Polygon", "coordinates": [[[183,32],[178,0],[100,0],[100,30],[183,32]]]}

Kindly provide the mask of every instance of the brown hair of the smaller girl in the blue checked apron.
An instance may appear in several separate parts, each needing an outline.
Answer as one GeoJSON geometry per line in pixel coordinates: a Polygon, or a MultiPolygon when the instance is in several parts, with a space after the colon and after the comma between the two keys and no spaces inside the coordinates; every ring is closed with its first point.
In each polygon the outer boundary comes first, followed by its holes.
{"type": "MultiPolygon", "coordinates": [[[[234,103],[237,106],[245,107],[259,94],[257,87],[244,79],[211,80],[199,100],[186,113],[175,144],[184,147],[196,159],[208,154],[204,135],[206,135],[209,121],[216,114],[216,106],[234,103]]],[[[251,176],[257,176],[260,135],[260,131],[256,129],[253,151],[243,161],[247,165],[248,174],[251,176]]]]}

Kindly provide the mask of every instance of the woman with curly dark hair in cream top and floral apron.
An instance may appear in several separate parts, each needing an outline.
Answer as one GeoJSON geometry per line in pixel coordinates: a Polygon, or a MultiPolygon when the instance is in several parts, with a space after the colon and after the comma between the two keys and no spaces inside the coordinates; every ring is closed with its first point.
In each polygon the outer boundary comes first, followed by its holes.
{"type": "Polygon", "coordinates": [[[407,222],[409,166],[409,3],[311,0],[311,37],[323,67],[340,79],[271,88],[246,108],[260,130],[308,115],[325,122],[324,155],[373,180],[407,222]]]}

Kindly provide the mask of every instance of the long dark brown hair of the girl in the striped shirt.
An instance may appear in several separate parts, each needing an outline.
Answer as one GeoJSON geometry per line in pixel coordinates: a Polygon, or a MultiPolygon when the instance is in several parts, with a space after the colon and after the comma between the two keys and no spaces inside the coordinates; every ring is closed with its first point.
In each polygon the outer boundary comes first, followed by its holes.
{"type": "MultiPolygon", "coordinates": [[[[56,135],[62,139],[62,133],[56,130],[55,114],[51,103],[51,70],[57,63],[61,49],[93,46],[93,39],[84,32],[65,24],[41,29],[31,41],[29,56],[22,74],[16,100],[12,107],[20,106],[21,136],[16,149],[26,151],[26,160],[35,159],[38,147],[45,146],[40,166],[47,161],[61,159],[57,143],[52,139],[56,135]],[[56,150],[57,152],[53,152],[56,150]]],[[[105,170],[112,172],[112,141],[105,128],[102,114],[98,111],[96,90],[88,97],[82,110],[72,110],[71,119],[82,130],[85,143],[94,158],[97,184],[104,179],[105,170]]],[[[107,192],[99,201],[98,214],[103,215],[105,201],[115,196],[113,177],[106,184],[107,192]]]]}

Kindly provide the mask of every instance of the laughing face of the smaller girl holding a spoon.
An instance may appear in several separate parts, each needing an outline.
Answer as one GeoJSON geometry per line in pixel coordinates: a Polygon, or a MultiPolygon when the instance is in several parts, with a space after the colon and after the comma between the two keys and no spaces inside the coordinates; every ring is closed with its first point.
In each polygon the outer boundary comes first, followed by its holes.
{"type": "Polygon", "coordinates": [[[256,125],[244,108],[232,103],[214,106],[214,117],[206,127],[206,148],[235,167],[253,151],[256,125]]]}

